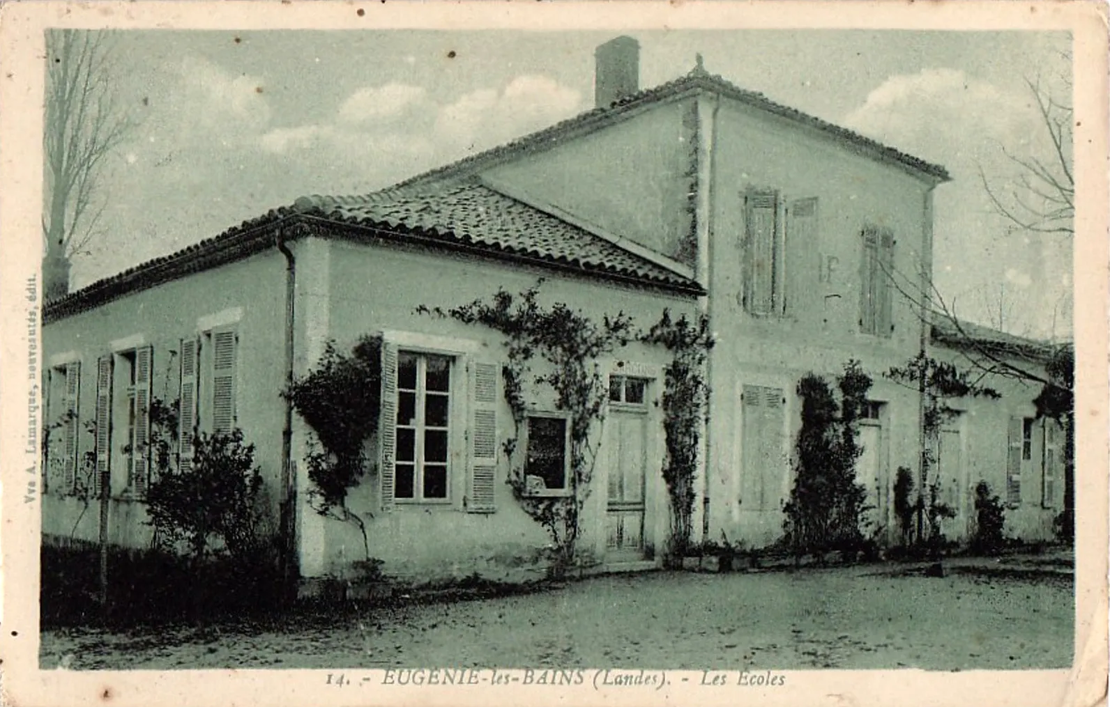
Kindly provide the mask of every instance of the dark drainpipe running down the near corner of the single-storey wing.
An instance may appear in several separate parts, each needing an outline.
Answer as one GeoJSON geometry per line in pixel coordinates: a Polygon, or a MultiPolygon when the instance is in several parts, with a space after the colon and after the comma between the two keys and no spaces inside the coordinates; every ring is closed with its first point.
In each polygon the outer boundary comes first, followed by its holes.
{"type": "MultiPolygon", "coordinates": [[[[274,245],[285,256],[285,390],[293,383],[293,335],[295,319],[295,295],[296,295],[296,258],[285,243],[285,230],[282,226],[274,233],[274,245]]],[[[292,480],[292,455],[293,455],[293,402],[282,396],[285,404],[285,419],[281,433],[281,481],[279,498],[281,499],[281,577],[282,590],[289,597],[296,571],[296,547],[295,547],[295,498],[294,484],[292,480]]]]}

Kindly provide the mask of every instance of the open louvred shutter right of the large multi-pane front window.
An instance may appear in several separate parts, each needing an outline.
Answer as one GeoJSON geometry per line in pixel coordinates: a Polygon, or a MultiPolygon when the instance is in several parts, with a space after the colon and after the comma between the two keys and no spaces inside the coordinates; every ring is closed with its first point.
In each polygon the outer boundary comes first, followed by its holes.
{"type": "Polygon", "coordinates": [[[492,513],[497,475],[497,379],[494,363],[471,366],[471,463],[464,500],[471,513],[492,513]]]}

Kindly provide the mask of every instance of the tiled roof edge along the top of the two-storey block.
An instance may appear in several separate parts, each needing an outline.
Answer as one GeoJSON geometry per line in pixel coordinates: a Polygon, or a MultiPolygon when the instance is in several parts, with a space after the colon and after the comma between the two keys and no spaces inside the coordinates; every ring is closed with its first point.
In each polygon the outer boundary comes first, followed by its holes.
{"type": "Polygon", "coordinates": [[[741,89],[719,75],[706,72],[704,69],[694,69],[684,76],[668,81],[667,83],[663,83],[652,89],[645,89],[644,91],[628,95],[612,105],[596,107],[591,111],[586,111],[585,113],[579,113],[578,115],[567,119],[561,123],[556,123],[551,127],[545,127],[538,132],[529,133],[528,135],[518,137],[512,142],[486,150],[485,152],[481,152],[468,157],[464,157],[457,162],[417,174],[400,182],[397,186],[403,187],[435,181],[441,177],[455,176],[460,173],[471,173],[490,163],[513,157],[521,153],[544,150],[561,140],[573,137],[581,132],[589,132],[608,124],[614,117],[618,117],[622,114],[628,113],[637,107],[673,96],[678,96],[684,93],[695,94],[698,92],[714,93],[734,99],[767,113],[779,115],[804,126],[818,130],[839,141],[841,144],[855,148],[874,160],[899,164],[902,167],[909,168],[912,172],[917,172],[939,182],[948,182],[951,180],[948,171],[940,165],[930,164],[925,160],[906,154],[899,150],[895,150],[894,147],[888,147],[887,145],[871,140],[870,137],[865,137],[864,135],[852,132],[846,127],[835,125],[819,117],[803,113],[796,109],[776,103],[763,93],[741,89]]]}

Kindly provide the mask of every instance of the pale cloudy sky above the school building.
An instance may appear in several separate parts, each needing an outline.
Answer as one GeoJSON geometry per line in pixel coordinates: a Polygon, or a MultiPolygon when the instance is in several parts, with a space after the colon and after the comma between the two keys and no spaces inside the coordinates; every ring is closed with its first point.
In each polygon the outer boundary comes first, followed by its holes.
{"type": "MultiPolygon", "coordinates": [[[[963,317],[1070,335],[1070,236],[1015,233],[979,171],[1043,154],[1025,80],[1066,96],[1066,33],[636,31],[640,85],[710,73],[929,162],[935,280],[963,317]],[[1001,305],[999,304],[1001,303],[1001,305]]],[[[105,163],[81,287],[305,194],[389,186],[593,107],[613,32],[123,31],[112,70],[135,121],[105,163]]],[[[1064,100],[1070,101],[1070,96],[1064,100]]]]}

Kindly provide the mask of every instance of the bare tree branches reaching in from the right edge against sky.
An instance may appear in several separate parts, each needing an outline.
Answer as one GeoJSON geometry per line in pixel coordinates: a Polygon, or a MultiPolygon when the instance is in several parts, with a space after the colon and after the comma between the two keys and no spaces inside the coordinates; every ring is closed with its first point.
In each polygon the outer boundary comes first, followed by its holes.
{"type": "MultiPolygon", "coordinates": [[[[1069,66],[1071,57],[1063,54],[1069,66]]],[[[991,184],[979,168],[979,178],[996,213],[1021,230],[1074,234],[1076,181],[1072,170],[1071,79],[1047,86],[1040,79],[1026,79],[1048,146],[1042,155],[1016,154],[1001,146],[1017,175],[1006,184],[991,184]]]]}

